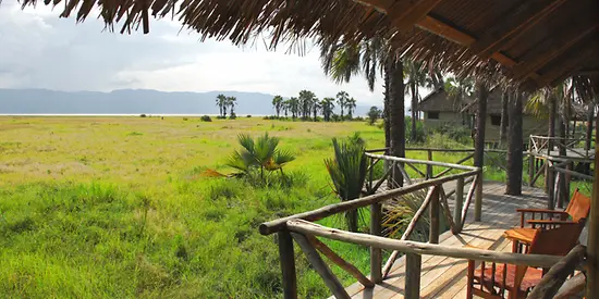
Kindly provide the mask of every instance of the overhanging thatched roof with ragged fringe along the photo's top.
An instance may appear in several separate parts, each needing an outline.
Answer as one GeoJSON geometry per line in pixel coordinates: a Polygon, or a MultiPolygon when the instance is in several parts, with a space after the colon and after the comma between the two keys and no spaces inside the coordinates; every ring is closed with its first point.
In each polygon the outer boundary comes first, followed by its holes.
{"type": "MultiPolygon", "coordinates": [[[[149,32],[149,15],[172,16],[203,37],[270,45],[320,37],[392,40],[395,53],[459,76],[505,77],[535,89],[576,74],[599,89],[596,0],[45,0],[84,21],[99,8],[109,28],[149,32]],[[62,4],[61,4],[62,3],[62,4]]],[[[35,0],[22,0],[23,5],[35,0]]]]}

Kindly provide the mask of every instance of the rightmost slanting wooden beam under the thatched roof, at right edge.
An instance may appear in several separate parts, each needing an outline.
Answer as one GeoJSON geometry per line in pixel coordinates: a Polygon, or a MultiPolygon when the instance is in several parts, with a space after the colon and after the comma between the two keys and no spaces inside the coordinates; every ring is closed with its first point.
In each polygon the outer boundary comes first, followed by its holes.
{"type": "MultiPolygon", "coordinates": [[[[541,68],[552,59],[557,58],[566,50],[585,41],[585,38],[595,33],[599,23],[592,18],[584,22],[583,26],[573,25],[562,32],[562,34],[551,35],[550,38],[535,47],[534,50],[526,53],[519,60],[519,64],[512,68],[515,79],[528,77],[531,73],[541,68]]],[[[583,46],[584,47],[584,46],[583,46]]]]}

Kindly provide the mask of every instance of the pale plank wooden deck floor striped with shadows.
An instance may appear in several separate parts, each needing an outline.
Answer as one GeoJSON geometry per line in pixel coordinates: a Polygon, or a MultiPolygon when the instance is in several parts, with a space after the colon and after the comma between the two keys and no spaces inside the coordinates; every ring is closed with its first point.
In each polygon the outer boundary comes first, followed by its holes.
{"type": "MultiPolygon", "coordinates": [[[[453,185],[453,184],[452,184],[453,185]]],[[[466,184],[468,185],[468,184],[466,184]]],[[[454,185],[453,185],[454,186],[454,185]]],[[[453,189],[444,185],[445,192],[453,189]]],[[[467,186],[466,186],[467,188],[467,186]]],[[[511,251],[511,242],[503,232],[519,225],[517,208],[545,208],[547,197],[541,189],[523,187],[522,197],[504,195],[505,185],[485,182],[482,196],[482,221],[474,222],[474,204],[470,205],[464,229],[460,235],[445,232],[439,238],[444,246],[474,246],[481,249],[511,251]]],[[[453,197],[449,200],[453,211],[453,197]]],[[[465,298],[467,261],[444,257],[423,256],[421,298],[465,298]]],[[[365,289],[359,283],[346,288],[352,298],[403,298],[405,259],[396,260],[389,277],[375,288],[365,289]]]]}

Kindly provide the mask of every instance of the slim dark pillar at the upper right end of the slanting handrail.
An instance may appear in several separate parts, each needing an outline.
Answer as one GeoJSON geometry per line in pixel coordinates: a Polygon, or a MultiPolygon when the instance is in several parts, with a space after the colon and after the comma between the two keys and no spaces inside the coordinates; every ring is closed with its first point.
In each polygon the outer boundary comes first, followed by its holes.
{"type": "MultiPolygon", "coordinates": [[[[476,97],[478,100],[478,111],[476,115],[476,139],[474,149],[474,165],[484,166],[485,161],[485,129],[487,123],[487,98],[489,90],[482,82],[476,83],[476,97]]],[[[478,175],[478,185],[475,195],[474,220],[480,221],[482,213],[482,174],[478,175]]]]}

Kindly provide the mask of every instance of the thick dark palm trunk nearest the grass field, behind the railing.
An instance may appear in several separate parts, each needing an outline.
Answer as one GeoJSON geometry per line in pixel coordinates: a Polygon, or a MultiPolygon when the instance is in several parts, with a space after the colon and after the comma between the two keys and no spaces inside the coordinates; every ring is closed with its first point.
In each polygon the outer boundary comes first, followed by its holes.
{"type": "MultiPolygon", "coordinates": [[[[403,63],[401,60],[392,60],[390,67],[390,98],[389,98],[389,135],[390,153],[393,157],[405,157],[405,108],[403,63]]],[[[400,171],[393,171],[393,180],[403,186],[403,176],[400,171]]]]}

